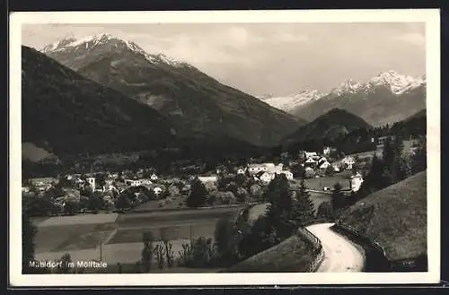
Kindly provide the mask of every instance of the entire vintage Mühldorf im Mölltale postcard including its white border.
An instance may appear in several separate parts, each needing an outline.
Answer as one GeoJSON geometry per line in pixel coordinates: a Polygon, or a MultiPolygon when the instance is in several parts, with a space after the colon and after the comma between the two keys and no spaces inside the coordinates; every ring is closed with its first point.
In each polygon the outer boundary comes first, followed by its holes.
{"type": "Polygon", "coordinates": [[[10,38],[13,284],[439,281],[438,10],[13,13],[10,38]]]}

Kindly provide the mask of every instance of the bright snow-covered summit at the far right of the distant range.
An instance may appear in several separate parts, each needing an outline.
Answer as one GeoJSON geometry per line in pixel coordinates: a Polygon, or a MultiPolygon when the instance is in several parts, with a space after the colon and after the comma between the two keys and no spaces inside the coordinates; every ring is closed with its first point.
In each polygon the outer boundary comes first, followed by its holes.
{"type": "Polygon", "coordinates": [[[414,78],[409,75],[399,74],[396,71],[387,71],[376,75],[368,82],[368,86],[385,85],[390,87],[395,94],[401,94],[410,89],[416,88],[422,83],[426,82],[426,77],[414,78]]]}

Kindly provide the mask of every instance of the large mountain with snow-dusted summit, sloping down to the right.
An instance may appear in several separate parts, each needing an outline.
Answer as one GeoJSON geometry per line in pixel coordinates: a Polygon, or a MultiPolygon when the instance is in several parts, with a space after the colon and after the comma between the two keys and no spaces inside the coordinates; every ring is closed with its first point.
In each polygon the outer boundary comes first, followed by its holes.
{"type": "Polygon", "coordinates": [[[217,82],[196,67],[108,34],[64,39],[42,52],[85,77],[157,109],[178,135],[211,134],[272,146],[304,125],[284,111],[217,82]]]}

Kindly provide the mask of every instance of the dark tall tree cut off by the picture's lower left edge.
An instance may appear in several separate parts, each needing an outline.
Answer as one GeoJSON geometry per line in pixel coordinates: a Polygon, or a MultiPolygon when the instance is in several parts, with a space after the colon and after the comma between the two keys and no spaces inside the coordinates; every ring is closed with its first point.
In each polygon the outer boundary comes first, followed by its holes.
{"type": "Polygon", "coordinates": [[[37,229],[30,220],[24,200],[22,202],[22,273],[31,273],[30,262],[34,261],[34,238],[37,229]]]}

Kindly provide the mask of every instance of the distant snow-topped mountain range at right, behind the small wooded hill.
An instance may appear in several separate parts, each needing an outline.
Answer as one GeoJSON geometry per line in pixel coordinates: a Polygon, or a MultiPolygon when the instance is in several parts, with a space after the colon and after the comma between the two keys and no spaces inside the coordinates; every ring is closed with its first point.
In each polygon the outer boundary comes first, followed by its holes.
{"type": "Polygon", "coordinates": [[[329,93],[305,90],[286,97],[262,96],[269,105],[312,121],[332,108],[343,108],[373,126],[401,121],[426,108],[426,76],[388,71],[365,82],[347,80],[329,93]]]}

